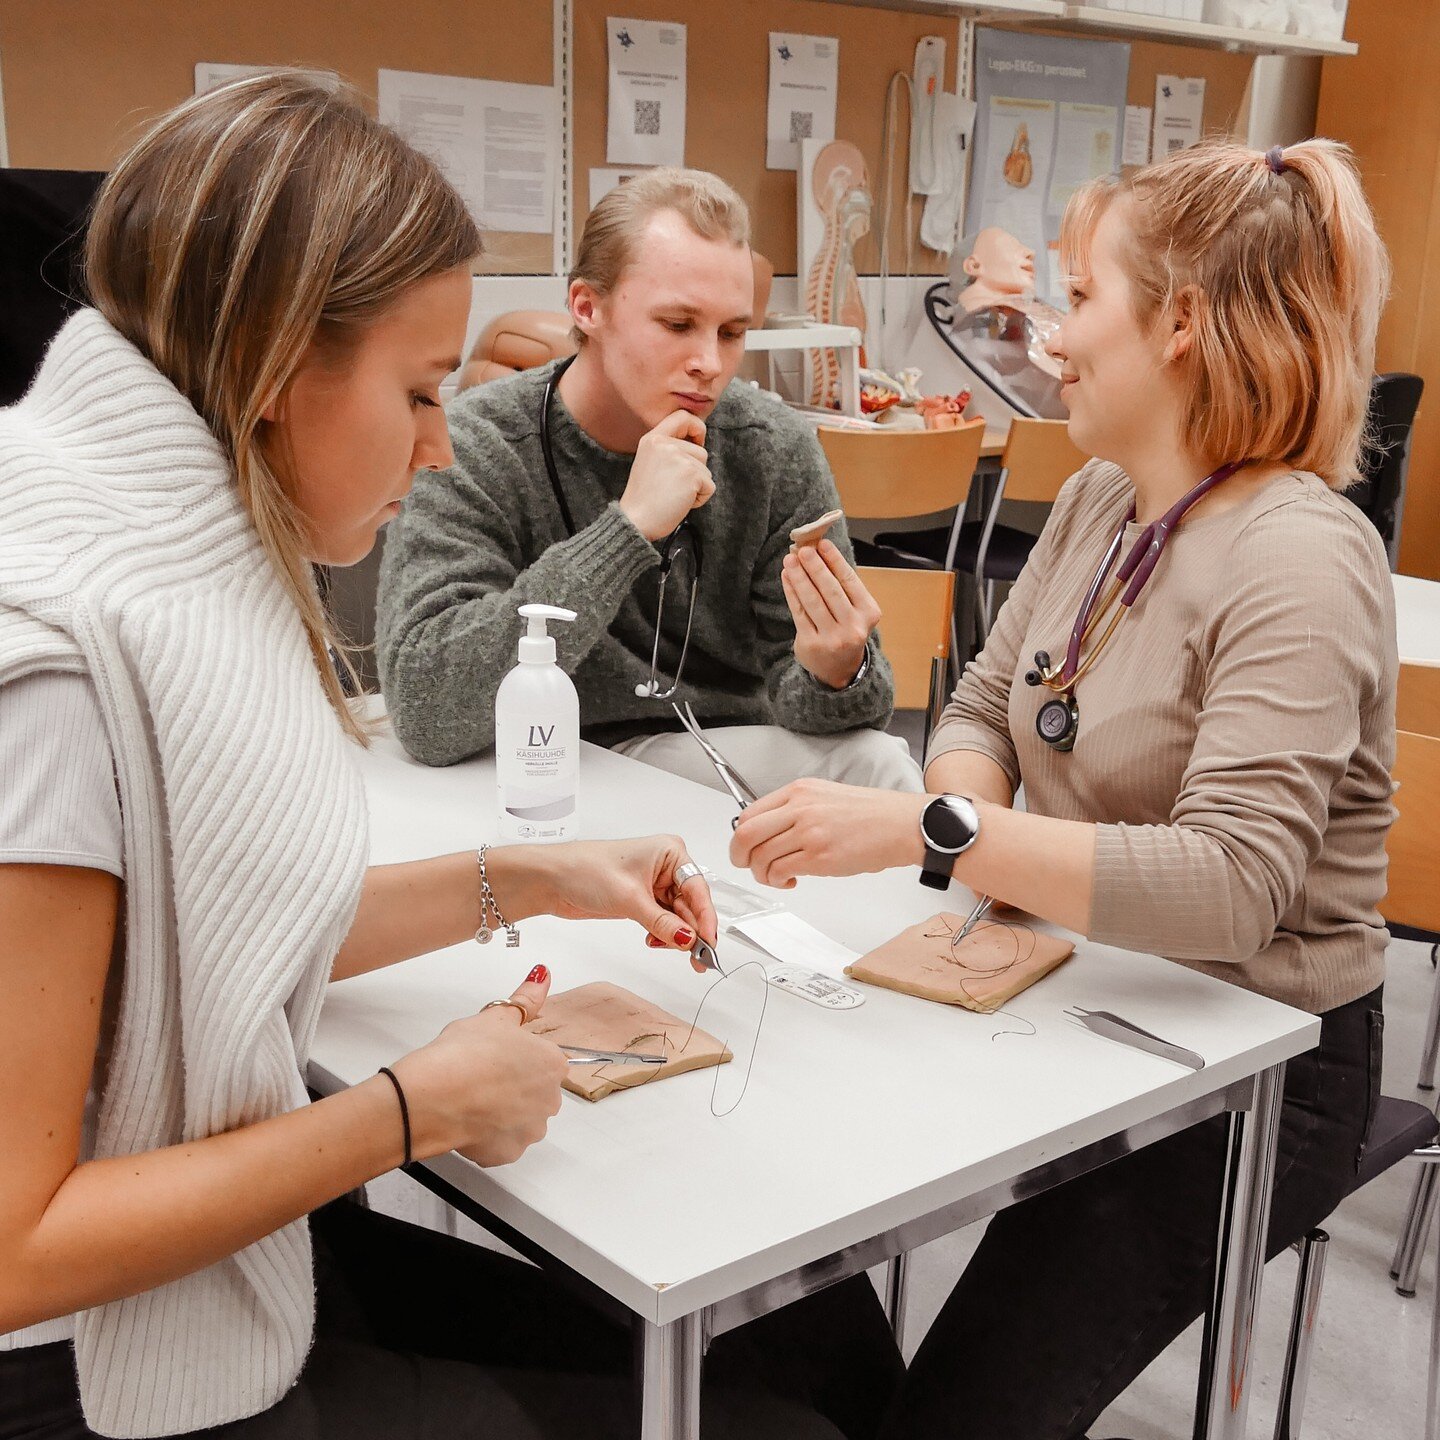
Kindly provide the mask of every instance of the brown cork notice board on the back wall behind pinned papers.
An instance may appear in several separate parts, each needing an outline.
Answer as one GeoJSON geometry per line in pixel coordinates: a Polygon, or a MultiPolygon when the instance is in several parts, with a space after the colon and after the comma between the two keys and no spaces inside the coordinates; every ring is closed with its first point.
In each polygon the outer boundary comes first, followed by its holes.
{"type": "MultiPolygon", "coordinates": [[[[608,69],[605,17],[678,20],[687,26],[685,160],[729,180],[752,207],[755,246],[782,275],[795,271],[796,177],[765,167],[769,33],[795,30],[840,40],[837,135],[865,157],[878,219],[886,86],[910,73],[916,42],[946,46],[946,88],[956,84],[960,24],[829,0],[572,0],[575,73],[570,78],[573,156],[572,238],[585,223],[589,171],[605,166],[608,69]]],[[[0,65],[10,163],[104,170],[160,111],[194,88],[197,60],[308,65],[338,71],[373,95],[380,69],[478,79],[554,84],[553,6],[500,0],[72,0],[53,6],[0,0],[0,65]]],[[[1136,43],[1129,99],[1152,105],[1155,75],[1204,75],[1205,128],[1230,128],[1243,108],[1250,60],[1188,46],[1136,43]]],[[[917,274],[945,264],[919,246],[923,200],[900,203],[909,112],[899,102],[896,215],[891,269],[904,268],[906,226],[917,274]]],[[[857,246],[863,274],[878,268],[876,235],[857,246]]],[[[549,275],[549,235],[490,232],[480,264],[488,274],[549,275]]]]}

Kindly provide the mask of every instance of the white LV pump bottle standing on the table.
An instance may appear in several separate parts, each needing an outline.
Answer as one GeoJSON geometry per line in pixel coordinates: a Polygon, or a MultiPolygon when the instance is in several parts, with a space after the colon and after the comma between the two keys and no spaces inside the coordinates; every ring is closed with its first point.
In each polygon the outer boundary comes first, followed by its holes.
{"type": "Polygon", "coordinates": [[[573,621],[557,605],[521,605],[527,634],[520,664],[495,696],[495,779],[500,838],[553,844],[575,840],[580,772],[580,698],[554,662],[547,621],[573,621]]]}

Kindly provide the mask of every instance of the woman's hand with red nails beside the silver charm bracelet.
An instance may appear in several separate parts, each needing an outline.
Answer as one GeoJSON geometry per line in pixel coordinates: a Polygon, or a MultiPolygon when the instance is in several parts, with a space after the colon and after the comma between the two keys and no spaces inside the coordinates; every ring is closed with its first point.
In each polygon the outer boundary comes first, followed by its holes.
{"type": "Polygon", "coordinates": [[[635,920],[655,949],[688,950],[701,936],[716,943],[716,907],[703,876],[675,884],[690,860],[678,835],[585,840],[546,847],[552,909],[567,920],[635,920]]]}

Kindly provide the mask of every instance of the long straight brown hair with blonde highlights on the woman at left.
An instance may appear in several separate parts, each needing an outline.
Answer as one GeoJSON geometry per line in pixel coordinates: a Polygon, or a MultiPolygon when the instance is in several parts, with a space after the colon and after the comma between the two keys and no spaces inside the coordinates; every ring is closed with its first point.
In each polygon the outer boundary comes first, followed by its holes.
{"type": "Polygon", "coordinates": [[[264,412],[311,344],[343,363],[410,285],[480,248],[432,161],[354,91],[298,71],[236,81],[163,115],[111,171],[89,225],[92,304],[229,454],[325,694],[361,743],[344,703],[346,684],[359,688],[354,667],[317,592],[291,477],[265,455],[264,412]]]}

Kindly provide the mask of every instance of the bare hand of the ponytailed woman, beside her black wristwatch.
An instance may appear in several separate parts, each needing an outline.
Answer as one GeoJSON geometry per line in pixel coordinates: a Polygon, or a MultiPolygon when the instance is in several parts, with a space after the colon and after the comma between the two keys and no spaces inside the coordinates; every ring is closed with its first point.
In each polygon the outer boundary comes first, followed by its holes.
{"type": "Polygon", "coordinates": [[[796,876],[858,876],[924,860],[920,812],[930,795],[870,791],[834,780],[795,780],[746,806],[730,863],[766,886],[796,876]]]}

